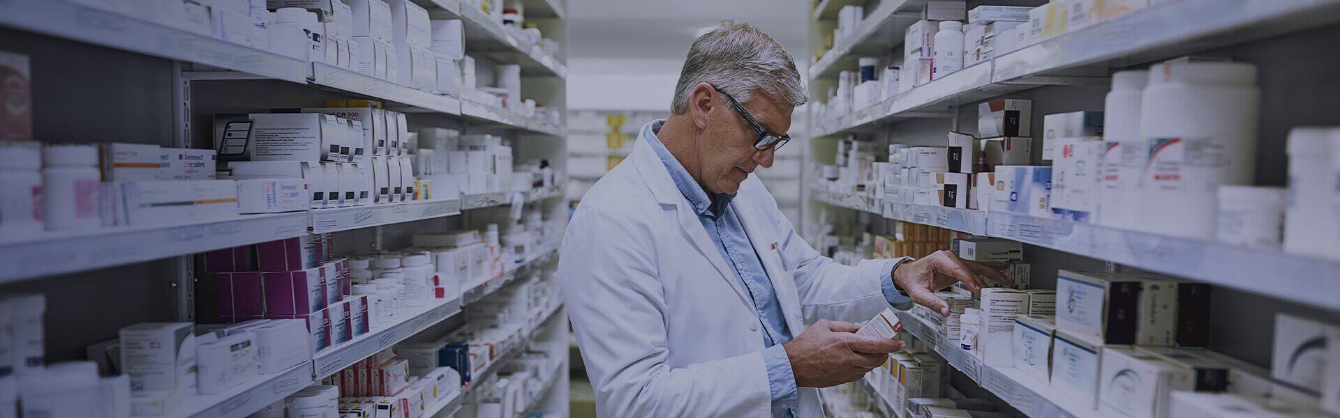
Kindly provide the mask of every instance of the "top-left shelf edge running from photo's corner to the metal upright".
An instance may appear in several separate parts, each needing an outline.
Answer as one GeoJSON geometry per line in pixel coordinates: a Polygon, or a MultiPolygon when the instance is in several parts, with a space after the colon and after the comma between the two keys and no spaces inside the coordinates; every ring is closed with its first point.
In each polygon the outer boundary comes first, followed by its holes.
{"type": "Polygon", "coordinates": [[[304,60],[64,0],[5,0],[0,25],[295,83],[311,71],[304,60]]]}

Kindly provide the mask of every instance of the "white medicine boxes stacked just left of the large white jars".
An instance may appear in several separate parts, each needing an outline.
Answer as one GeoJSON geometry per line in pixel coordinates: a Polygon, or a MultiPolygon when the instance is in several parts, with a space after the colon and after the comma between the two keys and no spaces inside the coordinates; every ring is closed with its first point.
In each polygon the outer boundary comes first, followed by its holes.
{"type": "Polygon", "coordinates": [[[1077,222],[1097,217],[1103,113],[1043,117],[1043,159],[1052,161],[1052,213],[1077,222]]]}

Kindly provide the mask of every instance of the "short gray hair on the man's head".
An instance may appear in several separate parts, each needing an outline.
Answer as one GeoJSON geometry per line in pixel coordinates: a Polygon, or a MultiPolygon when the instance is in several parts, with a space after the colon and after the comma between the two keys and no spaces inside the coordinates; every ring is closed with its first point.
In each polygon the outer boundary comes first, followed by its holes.
{"type": "Polygon", "coordinates": [[[754,92],[791,106],[809,100],[791,54],[762,29],[734,20],[722,20],[721,27],[698,36],[689,47],[674,87],[673,114],[689,111],[689,95],[698,83],[712,83],[740,103],[749,102],[754,92]]]}

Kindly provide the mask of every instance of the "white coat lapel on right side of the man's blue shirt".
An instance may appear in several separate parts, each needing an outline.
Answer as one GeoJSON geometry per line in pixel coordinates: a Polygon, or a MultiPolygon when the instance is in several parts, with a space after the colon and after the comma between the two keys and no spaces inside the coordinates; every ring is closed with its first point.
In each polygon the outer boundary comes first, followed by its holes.
{"type": "Polygon", "coordinates": [[[764,271],[768,272],[768,280],[772,281],[773,292],[777,295],[777,304],[781,305],[781,316],[787,320],[787,328],[791,328],[792,336],[800,335],[805,330],[805,324],[800,315],[795,276],[779,264],[781,263],[781,248],[779,247],[781,244],[777,242],[777,234],[773,229],[768,228],[770,220],[764,216],[758,202],[741,197],[744,194],[737,196],[732,206],[740,216],[740,222],[744,224],[745,233],[749,234],[749,244],[753,245],[758,260],[762,261],[764,271]]]}

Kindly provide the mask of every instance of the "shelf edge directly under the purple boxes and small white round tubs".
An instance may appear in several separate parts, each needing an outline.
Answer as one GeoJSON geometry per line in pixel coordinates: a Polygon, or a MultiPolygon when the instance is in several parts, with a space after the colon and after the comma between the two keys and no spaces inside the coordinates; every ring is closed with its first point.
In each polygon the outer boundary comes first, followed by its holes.
{"type": "Polygon", "coordinates": [[[339,372],[362,359],[395,346],[395,343],[460,314],[461,304],[462,300],[457,297],[417,309],[401,309],[401,319],[397,323],[378,327],[367,334],[318,352],[314,359],[316,378],[323,379],[339,372]]]}

